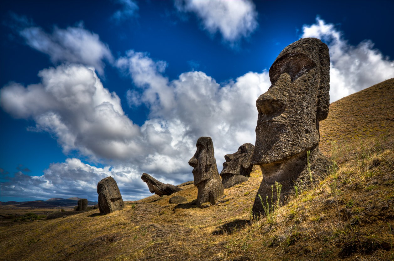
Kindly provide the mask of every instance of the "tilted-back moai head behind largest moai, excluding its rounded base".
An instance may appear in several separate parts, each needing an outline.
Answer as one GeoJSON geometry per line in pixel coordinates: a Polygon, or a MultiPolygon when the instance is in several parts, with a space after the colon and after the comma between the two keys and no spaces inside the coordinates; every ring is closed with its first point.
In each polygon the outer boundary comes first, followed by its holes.
{"type": "Polygon", "coordinates": [[[242,144],[236,153],[224,156],[226,162],[223,163],[222,178],[233,175],[249,176],[253,167],[251,158],[255,146],[251,143],[242,144]]]}

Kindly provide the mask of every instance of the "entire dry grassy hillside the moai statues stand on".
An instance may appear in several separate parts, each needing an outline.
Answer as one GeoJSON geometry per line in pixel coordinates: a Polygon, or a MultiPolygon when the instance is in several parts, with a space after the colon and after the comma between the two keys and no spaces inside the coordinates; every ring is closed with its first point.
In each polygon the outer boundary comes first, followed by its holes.
{"type": "Polygon", "coordinates": [[[337,166],[311,189],[251,219],[262,175],[199,209],[193,185],[169,204],[156,195],[109,215],[0,227],[2,260],[394,260],[394,79],[332,104],[322,151],[337,166]]]}

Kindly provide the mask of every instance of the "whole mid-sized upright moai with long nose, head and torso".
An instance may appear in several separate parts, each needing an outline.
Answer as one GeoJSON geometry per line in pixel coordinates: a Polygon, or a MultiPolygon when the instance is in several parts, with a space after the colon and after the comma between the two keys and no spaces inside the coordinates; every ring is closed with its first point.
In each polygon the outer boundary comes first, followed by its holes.
{"type": "Polygon", "coordinates": [[[207,202],[214,205],[224,194],[219,172],[217,171],[214,144],[210,137],[197,140],[197,151],[189,160],[193,167],[194,185],[197,186],[197,206],[203,208],[207,202]]]}

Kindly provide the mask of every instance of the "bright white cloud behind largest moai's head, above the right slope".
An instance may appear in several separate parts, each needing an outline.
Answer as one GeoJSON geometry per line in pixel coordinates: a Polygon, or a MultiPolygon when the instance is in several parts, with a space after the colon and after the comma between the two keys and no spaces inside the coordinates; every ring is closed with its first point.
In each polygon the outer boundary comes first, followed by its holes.
{"type": "Polygon", "coordinates": [[[302,37],[319,38],[329,47],[331,102],[394,77],[394,61],[374,49],[371,40],[352,46],[333,24],[319,17],[316,24],[303,26],[302,37]]]}

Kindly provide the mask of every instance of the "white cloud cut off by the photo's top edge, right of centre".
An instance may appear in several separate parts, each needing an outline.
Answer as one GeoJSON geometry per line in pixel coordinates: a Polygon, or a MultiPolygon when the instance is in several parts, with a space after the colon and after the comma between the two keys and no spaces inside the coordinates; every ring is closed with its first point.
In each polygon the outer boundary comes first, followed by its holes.
{"type": "Polygon", "coordinates": [[[211,34],[219,31],[224,40],[234,42],[249,36],[258,26],[255,5],[249,0],[176,2],[178,11],[193,12],[211,34]]]}

